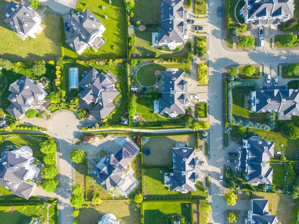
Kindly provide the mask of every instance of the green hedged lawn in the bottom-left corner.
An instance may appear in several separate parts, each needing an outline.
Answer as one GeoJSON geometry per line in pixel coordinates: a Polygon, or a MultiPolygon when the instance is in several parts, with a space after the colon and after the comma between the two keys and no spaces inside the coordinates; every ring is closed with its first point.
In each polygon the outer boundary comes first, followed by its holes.
{"type": "Polygon", "coordinates": [[[0,207],[0,224],[26,224],[31,218],[43,217],[44,206],[0,207]]]}

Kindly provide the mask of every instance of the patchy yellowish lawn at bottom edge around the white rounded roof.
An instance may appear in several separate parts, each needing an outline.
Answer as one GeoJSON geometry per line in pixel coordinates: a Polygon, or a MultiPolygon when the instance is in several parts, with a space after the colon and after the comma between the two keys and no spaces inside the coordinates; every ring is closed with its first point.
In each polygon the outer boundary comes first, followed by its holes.
{"type": "Polygon", "coordinates": [[[95,224],[106,213],[113,213],[121,224],[136,224],[140,222],[140,209],[133,201],[101,202],[99,206],[86,203],[88,206],[80,209],[78,224],[95,224]]]}

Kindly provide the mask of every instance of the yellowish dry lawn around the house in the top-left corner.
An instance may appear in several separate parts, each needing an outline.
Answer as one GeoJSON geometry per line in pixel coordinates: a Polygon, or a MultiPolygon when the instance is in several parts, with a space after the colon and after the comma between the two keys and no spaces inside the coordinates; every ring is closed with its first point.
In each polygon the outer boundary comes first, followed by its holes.
{"type": "MultiPolygon", "coordinates": [[[[1,10],[8,0],[0,1],[1,10]]],[[[60,50],[60,20],[59,16],[45,11],[42,19],[44,28],[36,38],[27,37],[21,40],[4,22],[5,15],[0,13],[0,55],[10,61],[56,60],[61,55],[60,50]]]]}

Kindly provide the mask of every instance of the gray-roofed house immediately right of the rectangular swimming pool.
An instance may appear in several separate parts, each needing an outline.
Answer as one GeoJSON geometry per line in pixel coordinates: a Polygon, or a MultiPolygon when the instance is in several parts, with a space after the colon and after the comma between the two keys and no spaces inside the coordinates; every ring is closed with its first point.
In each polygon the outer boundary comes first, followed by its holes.
{"type": "Polygon", "coordinates": [[[84,89],[80,96],[86,104],[95,104],[91,112],[101,120],[105,119],[116,107],[114,98],[120,94],[115,88],[116,77],[108,72],[99,73],[95,68],[82,75],[79,85],[84,89]]]}

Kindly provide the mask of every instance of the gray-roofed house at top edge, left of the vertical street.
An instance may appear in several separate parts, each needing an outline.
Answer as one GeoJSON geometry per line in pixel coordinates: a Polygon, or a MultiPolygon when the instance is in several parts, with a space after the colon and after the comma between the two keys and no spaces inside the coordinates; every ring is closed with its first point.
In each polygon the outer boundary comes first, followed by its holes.
{"type": "Polygon", "coordinates": [[[152,44],[169,50],[183,45],[188,39],[187,15],[184,0],[161,0],[161,26],[152,33],[152,44]]]}

